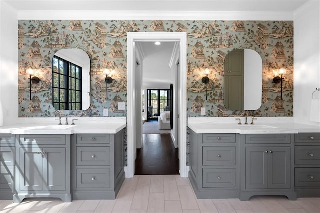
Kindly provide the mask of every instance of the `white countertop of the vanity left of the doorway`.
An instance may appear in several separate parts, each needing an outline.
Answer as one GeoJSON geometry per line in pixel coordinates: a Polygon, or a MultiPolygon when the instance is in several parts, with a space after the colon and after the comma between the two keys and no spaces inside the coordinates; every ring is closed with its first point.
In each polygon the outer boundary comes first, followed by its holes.
{"type": "Polygon", "coordinates": [[[20,123],[1,126],[1,134],[115,134],[125,128],[125,117],[77,118],[69,117],[69,125],[58,125],[55,119],[23,119],[20,123]],[[40,120],[41,119],[41,120],[40,120]],[[75,125],[70,125],[74,120],[75,125]],[[45,122],[43,122],[45,121],[45,122]]]}

